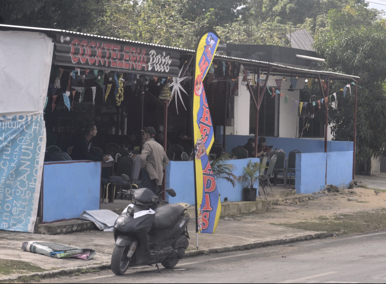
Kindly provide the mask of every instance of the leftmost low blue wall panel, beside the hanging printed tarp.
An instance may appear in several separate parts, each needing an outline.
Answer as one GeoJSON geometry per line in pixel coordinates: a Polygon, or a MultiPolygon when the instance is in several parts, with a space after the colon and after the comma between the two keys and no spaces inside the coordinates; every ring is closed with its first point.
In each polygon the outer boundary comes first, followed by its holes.
{"type": "Polygon", "coordinates": [[[47,162],[43,172],[43,222],[79,218],[98,210],[101,162],[47,162]]]}

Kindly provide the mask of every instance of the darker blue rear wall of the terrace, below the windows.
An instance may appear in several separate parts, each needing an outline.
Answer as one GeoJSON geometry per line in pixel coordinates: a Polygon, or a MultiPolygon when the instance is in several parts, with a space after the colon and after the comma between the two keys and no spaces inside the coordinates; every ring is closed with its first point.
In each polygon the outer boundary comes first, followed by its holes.
{"type": "MultiPolygon", "coordinates": [[[[226,135],[225,136],[225,151],[230,153],[232,148],[238,145],[245,145],[251,136],[247,135],[226,135]]],[[[218,143],[222,144],[222,135],[217,135],[218,143]]],[[[266,144],[273,149],[283,149],[288,153],[292,150],[299,150],[302,153],[324,152],[324,140],[305,139],[305,138],[282,138],[282,137],[266,137],[266,144]]],[[[352,151],[353,142],[348,141],[327,141],[327,152],[337,151],[352,151]]]]}

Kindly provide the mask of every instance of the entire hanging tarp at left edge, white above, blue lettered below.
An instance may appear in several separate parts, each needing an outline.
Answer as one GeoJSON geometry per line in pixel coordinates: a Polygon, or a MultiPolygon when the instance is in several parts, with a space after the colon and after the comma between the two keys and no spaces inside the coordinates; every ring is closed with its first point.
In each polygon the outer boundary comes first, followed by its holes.
{"type": "Polygon", "coordinates": [[[43,120],[54,43],[0,31],[0,229],[34,231],[46,148],[43,120]]]}

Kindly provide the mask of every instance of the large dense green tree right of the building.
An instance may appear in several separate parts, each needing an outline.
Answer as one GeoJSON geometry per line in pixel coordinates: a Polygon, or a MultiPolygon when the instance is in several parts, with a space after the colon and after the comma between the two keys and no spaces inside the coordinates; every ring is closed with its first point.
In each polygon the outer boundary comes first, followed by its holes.
{"type": "MultiPolygon", "coordinates": [[[[358,88],[357,161],[380,156],[386,146],[386,22],[362,4],[330,10],[327,27],[317,31],[315,48],[326,62],[320,69],[355,74],[363,80],[358,88]]],[[[350,81],[330,87],[331,92],[350,81]]],[[[338,107],[329,108],[335,140],[353,140],[354,86],[346,98],[338,92],[338,107]]]]}

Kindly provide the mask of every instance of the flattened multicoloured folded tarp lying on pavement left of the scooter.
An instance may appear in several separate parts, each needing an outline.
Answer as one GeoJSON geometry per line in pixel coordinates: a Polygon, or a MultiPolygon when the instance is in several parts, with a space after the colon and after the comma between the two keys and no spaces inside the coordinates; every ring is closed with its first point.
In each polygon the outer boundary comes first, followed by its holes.
{"type": "Polygon", "coordinates": [[[61,243],[53,242],[23,242],[22,249],[26,252],[33,252],[34,254],[43,254],[49,257],[56,257],[58,259],[65,257],[75,257],[77,259],[89,260],[97,253],[94,249],[69,247],[61,243]]]}

